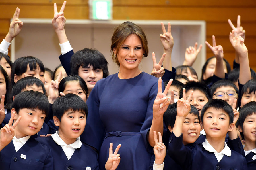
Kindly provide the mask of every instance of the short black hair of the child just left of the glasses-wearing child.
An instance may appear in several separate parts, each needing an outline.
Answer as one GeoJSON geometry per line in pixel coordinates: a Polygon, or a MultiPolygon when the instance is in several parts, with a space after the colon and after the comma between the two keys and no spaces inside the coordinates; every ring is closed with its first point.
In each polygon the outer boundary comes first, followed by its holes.
{"type": "MultiPolygon", "coordinates": [[[[203,82],[195,82],[195,81],[189,81],[187,82],[184,87],[186,89],[186,92],[188,92],[189,90],[199,90],[200,92],[202,92],[203,94],[205,94],[206,98],[208,100],[212,99],[212,93],[210,91],[210,89],[206,86],[205,83],[203,82]]],[[[179,98],[181,99],[182,96],[182,90],[179,92],[179,98]]]]}

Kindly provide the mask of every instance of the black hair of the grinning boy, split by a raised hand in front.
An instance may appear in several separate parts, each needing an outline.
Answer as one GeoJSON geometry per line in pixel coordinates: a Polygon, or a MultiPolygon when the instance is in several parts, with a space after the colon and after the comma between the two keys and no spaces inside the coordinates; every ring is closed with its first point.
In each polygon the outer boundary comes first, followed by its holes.
{"type": "MultiPolygon", "coordinates": [[[[195,106],[190,105],[190,107],[191,107],[191,110],[189,114],[193,114],[194,116],[197,116],[198,120],[200,120],[199,112],[195,108],[195,106]]],[[[169,126],[173,128],[176,115],[177,115],[177,103],[173,103],[172,105],[169,105],[167,110],[164,112],[164,123],[166,128],[168,128],[169,126]]]]}

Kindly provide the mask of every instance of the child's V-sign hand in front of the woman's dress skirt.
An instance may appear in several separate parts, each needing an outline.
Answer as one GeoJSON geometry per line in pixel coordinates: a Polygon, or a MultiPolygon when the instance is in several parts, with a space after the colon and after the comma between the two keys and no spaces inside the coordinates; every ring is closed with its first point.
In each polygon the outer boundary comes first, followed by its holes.
{"type": "Polygon", "coordinates": [[[117,154],[117,152],[119,151],[120,147],[121,147],[121,144],[117,146],[117,148],[115,149],[115,152],[113,153],[113,143],[110,143],[109,157],[105,164],[106,170],[115,170],[119,165],[121,158],[120,158],[120,154],[117,154]]]}

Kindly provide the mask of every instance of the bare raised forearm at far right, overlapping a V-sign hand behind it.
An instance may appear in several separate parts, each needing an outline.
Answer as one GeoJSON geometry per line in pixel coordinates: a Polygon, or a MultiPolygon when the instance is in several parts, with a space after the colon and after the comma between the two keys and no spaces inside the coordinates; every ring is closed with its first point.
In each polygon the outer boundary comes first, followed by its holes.
{"type": "Polygon", "coordinates": [[[234,30],[232,30],[232,33],[229,33],[229,40],[239,55],[239,82],[240,84],[245,84],[247,81],[251,80],[248,50],[243,42],[243,38],[241,36],[235,37],[234,30]]]}

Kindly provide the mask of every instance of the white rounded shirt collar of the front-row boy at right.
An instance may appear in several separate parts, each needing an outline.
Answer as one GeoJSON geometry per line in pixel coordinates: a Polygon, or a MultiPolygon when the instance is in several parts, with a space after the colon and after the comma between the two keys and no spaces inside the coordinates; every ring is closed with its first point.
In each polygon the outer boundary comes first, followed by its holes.
{"type": "Polygon", "coordinates": [[[225,143],[225,147],[222,151],[220,152],[217,152],[213,147],[212,145],[210,145],[210,143],[205,139],[205,142],[203,142],[203,147],[205,148],[205,150],[209,151],[209,152],[213,152],[218,160],[218,162],[220,162],[220,160],[223,158],[224,154],[226,156],[231,156],[231,150],[230,148],[228,147],[228,145],[225,143]]]}

